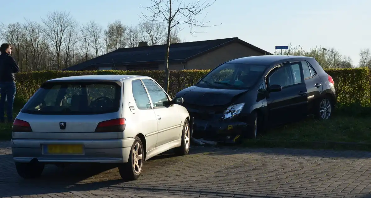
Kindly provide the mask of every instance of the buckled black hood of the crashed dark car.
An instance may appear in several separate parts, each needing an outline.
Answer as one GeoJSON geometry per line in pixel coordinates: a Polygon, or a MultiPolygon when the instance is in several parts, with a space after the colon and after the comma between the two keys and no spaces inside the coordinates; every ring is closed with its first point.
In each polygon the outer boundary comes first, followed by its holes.
{"type": "Polygon", "coordinates": [[[191,86],[181,90],[176,97],[183,97],[185,104],[197,106],[224,106],[229,105],[232,100],[246,89],[213,89],[191,86]]]}

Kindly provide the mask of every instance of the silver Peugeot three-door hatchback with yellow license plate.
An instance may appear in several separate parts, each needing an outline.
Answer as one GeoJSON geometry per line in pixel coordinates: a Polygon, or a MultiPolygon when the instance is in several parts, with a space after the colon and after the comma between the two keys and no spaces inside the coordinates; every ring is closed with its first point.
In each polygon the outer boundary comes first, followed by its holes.
{"type": "Polygon", "coordinates": [[[12,151],[23,178],[39,177],[45,164],[118,164],[137,179],[144,161],[190,148],[190,116],[148,76],[90,75],[48,80],[17,115],[12,151]]]}

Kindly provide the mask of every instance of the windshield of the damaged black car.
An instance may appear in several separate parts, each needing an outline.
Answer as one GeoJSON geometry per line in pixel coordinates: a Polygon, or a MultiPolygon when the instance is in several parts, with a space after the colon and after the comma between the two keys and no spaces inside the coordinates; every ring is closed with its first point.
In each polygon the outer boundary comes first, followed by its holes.
{"type": "Polygon", "coordinates": [[[201,79],[196,86],[217,89],[248,89],[263,75],[267,65],[224,63],[201,79]]]}

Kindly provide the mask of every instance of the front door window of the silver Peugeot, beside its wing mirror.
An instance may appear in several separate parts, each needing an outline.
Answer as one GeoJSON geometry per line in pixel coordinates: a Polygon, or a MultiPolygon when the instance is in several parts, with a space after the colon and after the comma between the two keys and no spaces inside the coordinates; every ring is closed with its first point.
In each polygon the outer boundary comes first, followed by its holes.
{"type": "Polygon", "coordinates": [[[150,94],[154,108],[164,106],[162,102],[169,101],[166,93],[151,79],[142,79],[150,94]]]}

